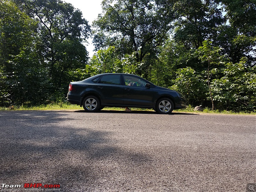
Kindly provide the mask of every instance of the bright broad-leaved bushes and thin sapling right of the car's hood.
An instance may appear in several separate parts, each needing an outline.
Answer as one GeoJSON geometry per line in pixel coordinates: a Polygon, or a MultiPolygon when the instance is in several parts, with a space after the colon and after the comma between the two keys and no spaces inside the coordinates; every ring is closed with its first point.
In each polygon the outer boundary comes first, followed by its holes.
{"type": "Polygon", "coordinates": [[[211,43],[204,41],[204,46],[197,50],[199,58],[208,62],[208,70],[199,71],[201,75],[198,75],[190,67],[178,69],[170,88],[182,92],[188,104],[202,104],[209,98],[213,110],[255,111],[256,68],[247,64],[247,58],[238,63],[231,62],[211,43]]]}

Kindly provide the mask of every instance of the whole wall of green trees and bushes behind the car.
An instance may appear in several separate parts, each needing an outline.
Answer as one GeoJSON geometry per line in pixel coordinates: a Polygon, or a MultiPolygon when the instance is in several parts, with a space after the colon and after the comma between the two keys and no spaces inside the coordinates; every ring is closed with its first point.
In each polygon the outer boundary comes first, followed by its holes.
{"type": "Polygon", "coordinates": [[[123,72],[192,106],[256,110],[255,0],[103,0],[102,9],[89,26],[61,0],[0,0],[0,106],[62,102],[70,81],[123,72]]]}

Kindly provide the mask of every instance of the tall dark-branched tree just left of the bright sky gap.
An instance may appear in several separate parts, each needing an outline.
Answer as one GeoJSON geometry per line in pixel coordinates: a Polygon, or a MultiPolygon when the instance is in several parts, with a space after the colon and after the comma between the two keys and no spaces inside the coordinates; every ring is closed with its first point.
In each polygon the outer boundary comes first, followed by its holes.
{"type": "Polygon", "coordinates": [[[66,86],[72,80],[72,71],[88,62],[82,44],[90,33],[88,21],[82,18],[81,11],[61,0],[17,0],[17,4],[40,23],[37,50],[46,60],[54,87],[66,86]]]}

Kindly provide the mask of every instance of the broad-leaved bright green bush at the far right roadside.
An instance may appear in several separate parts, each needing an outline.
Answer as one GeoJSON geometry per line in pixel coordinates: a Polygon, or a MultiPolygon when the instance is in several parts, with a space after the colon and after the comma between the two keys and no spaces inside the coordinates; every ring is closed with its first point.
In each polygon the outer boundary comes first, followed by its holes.
{"type": "Polygon", "coordinates": [[[213,100],[221,109],[255,110],[256,68],[246,67],[247,58],[239,63],[226,62],[220,69],[223,76],[212,82],[213,100]]]}

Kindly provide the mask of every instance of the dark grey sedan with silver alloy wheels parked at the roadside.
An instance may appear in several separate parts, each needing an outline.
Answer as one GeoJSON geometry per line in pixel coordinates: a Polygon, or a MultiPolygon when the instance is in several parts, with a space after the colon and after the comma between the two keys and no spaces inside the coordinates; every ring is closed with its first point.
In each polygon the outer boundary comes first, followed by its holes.
{"type": "Polygon", "coordinates": [[[173,109],[186,108],[185,97],[180,92],[126,73],[105,73],[70,82],[67,101],[83,106],[87,112],[104,107],[134,107],[170,114],[173,109]]]}

